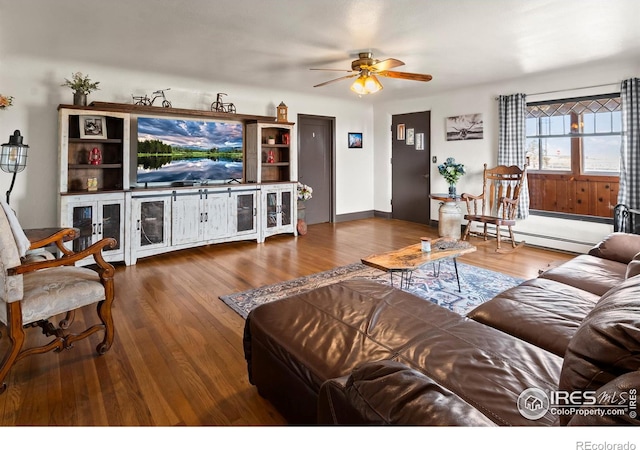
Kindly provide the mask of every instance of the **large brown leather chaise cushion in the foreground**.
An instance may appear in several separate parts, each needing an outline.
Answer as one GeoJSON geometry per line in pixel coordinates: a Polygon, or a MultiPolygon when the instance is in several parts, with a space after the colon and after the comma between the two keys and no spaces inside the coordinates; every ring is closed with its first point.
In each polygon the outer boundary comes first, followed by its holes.
{"type": "MultiPolygon", "coordinates": [[[[247,325],[249,372],[259,348],[295,374],[295,380],[275,380],[283,386],[302,380],[320,392],[325,381],[367,362],[394,360],[430,380],[425,407],[455,405],[463,416],[474,417],[477,409],[501,425],[532,425],[517,410],[518,395],[532,386],[556,389],[562,364],[534,345],[370,280],[344,281],[262,305],[249,314],[247,325]]],[[[395,394],[389,395],[387,401],[397,403],[395,394]]],[[[556,420],[549,414],[534,425],[556,420]]],[[[432,423],[441,422],[434,417],[432,423]]]]}

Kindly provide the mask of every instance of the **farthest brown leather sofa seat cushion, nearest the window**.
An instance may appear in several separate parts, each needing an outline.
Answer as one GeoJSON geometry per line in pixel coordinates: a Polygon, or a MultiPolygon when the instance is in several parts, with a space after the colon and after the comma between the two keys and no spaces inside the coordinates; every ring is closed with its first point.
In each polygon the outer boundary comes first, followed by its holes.
{"type": "Polygon", "coordinates": [[[541,273],[539,278],[555,280],[602,296],[624,280],[626,271],[627,262],[621,263],[592,255],[579,255],[541,273]]]}

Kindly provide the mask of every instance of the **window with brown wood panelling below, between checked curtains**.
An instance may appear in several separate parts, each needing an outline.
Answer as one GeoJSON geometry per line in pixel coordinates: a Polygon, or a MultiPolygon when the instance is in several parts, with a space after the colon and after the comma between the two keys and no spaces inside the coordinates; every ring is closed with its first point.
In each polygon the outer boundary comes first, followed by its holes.
{"type": "Polygon", "coordinates": [[[619,187],[620,94],[527,104],[530,209],[613,217],[619,187]]]}

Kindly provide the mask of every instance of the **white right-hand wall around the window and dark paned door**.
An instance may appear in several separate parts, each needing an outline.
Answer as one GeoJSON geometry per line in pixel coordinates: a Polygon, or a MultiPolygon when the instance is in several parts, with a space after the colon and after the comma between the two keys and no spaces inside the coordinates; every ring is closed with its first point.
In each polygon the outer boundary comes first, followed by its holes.
{"type": "MultiPolygon", "coordinates": [[[[594,63],[545,76],[475,86],[408,101],[376,104],[373,125],[376,140],[374,160],[376,180],[374,204],[376,210],[391,211],[391,167],[389,165],[391,137],[389,130],[392,115],[431,111],[431,155],[438,159],[436,164],[431,164],[431,192],[446,192],[447,184],[438,173],[437,164],[443,162],[447,157],[454,157],[457,162],[465,164],[468,172],[459,181],[458,192],[480,193],[483,164],[486,162],[491,166],[497,163],[497,96],[522,92],[527,94],[528,100],[540,101],[549,98],[614,92],[619,91],[620,82],[623,79],[639,74],[640,62],[637,61],[629,61],[626,65],[594,63]],[[484,139],[447,142],[445,119],[450,116],[472,113],[482,113],[483,115],[484,139]]],[[[433,76],[437,77],[438,75],[434,73],[433,76]]],[[[431,218],[437,220],[438,203],[431,201],[428,207],[431,218]]],[[[613,228],[609,225],[536,217],[518,223],[515,229],[527,233],[517,237],[518,239],[525,238],[527,242],[537,245],[580,252],[588,249],[591,243],[598,242],[613,228]],[[547,235],[557,239],[549,240],[533,235],[547,235]],[[567,241],[576,241],[577,243],[567,241]]]]}

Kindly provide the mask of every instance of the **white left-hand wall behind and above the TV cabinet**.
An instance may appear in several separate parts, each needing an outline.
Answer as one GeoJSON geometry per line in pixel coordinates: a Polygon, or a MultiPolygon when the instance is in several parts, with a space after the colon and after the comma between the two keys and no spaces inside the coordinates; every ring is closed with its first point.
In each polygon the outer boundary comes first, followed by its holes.
{"type": "MultiPolygon", "coordinates": [[[[14,106],[0,111],[0,139],[19,129],[30,146],[27,168],[18,174],[11,194],[11,206],[25,228],[57,225],[57,107],[72,103],[69,88],[61,87],[73,72],[89,74],[100,81],[100,90],[89,101],[131,103],[131,95],[151,94],[171,88],[167,97],[176,108],[209,110],[217,92],[225,92],[238,113],[275,115],[275,107],[284,101],[289,120],[298,114],[336,118],[336,192],[337,214],[373,209],[373,112],[370,104],[349,96],[344,100],[300,95],[229,85],[215,80],[198,80],[132,72],[112,67],[92,66],[77,61],[2,58],[0,93],[15,97],[14,106]],[[347,148],[347,133],[362,131],[364,147],[347,148]]],[[[293,142],[297,150],[297,142],[293,142]]],[[[11,174],[0,172],[0,192],[9,189],[11,174]]]]}

